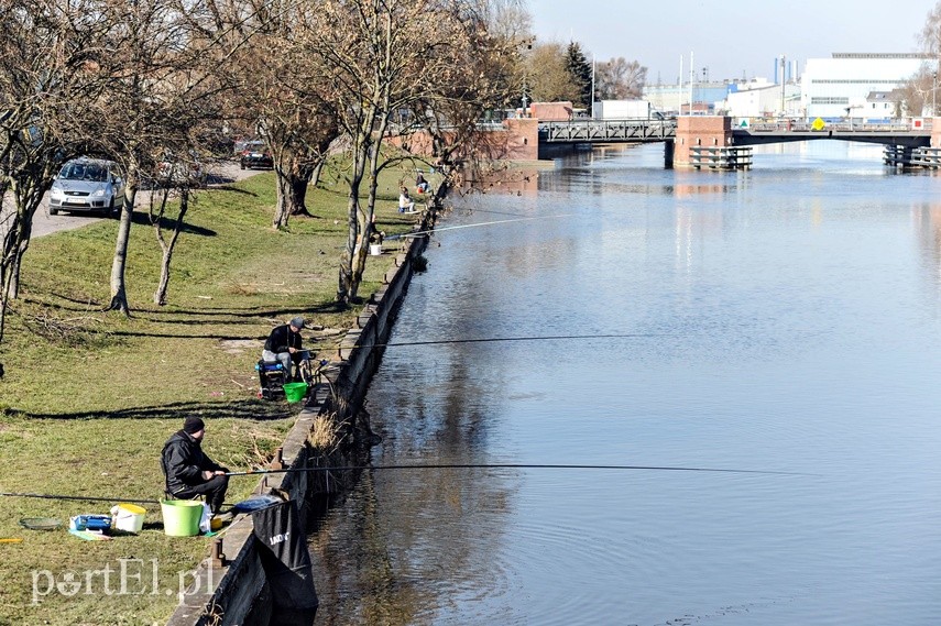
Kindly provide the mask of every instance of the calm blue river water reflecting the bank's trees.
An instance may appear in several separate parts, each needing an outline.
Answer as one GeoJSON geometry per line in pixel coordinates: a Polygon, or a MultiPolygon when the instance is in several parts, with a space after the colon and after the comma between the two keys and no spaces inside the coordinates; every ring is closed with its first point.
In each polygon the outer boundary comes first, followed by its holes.
{"type": "Polygon", "coordinates": [[[941,623],[941,178],[595,151],[456,198],[311,537],[318,624],[941,623]],[[500,193],[518,188],[518,193],[500,193]],[[521,218],[536,218],[521,220],[521,218]],[[621,336],[621,337],[600,337],[621,336]]]}

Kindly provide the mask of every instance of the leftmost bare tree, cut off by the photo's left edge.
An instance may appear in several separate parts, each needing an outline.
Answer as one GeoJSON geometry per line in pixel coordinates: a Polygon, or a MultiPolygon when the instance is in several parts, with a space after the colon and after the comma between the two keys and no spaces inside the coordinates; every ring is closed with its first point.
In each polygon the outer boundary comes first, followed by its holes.
{"type": "Polygon", "coordinates": [[[108,23],[96,0],[18,0],[0,6],[0,341],[19,289],[33,216],[65,161],[88,147],[87,102],[107,80],[108,23]]]}

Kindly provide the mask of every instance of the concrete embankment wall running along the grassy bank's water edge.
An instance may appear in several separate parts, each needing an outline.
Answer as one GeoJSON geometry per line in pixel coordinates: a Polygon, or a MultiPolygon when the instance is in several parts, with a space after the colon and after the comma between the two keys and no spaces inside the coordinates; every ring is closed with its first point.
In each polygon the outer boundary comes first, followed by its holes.
{"type": "MultiPolygon", "coordinates": [[[[424,222],[423,230],[429,226],[424,222]]],[[[390,268],[383,286],[370,297],[336,354],[330,358],[339,367],[331,369],[328,382],[318,385],[297,417],[297,421],[282,446],[285,468],[307,468],[321,459],[307,442],[307,437],[319,415],[339,414],[338,419],[355,419],[355,409],[362,403],[372,374],[379,366],[384,344],[392,329],[395,314],[412,279],[412,261],[425,251],[427,237],[408,238],[403,249],[395,253],[395,266],[390,268]],[[336,406],[342,405],[342,406],[336,406]]],[[[351,425],[352,426],[352,425],[351,425]]],[[[352,430],[352,428],[350,429],[352,430]]],[[[322,465],[324,463],[320,462],[322,465]]],[[[238,480],[238,479],[236,479],[238,480]]],[[[302,527],[308,524],[308,508],[303,503],[317,492],[320,481],[310,472],[267,474],[255,488],[266,494],[281,490],[298,503],[302,527]]],[[[251,516],[240,515],[215,541],[214,551],[221,551],[225,560],[211,557],[204,561],[195,582],[171,617],[169,626],[194,625],[260,625],[267,626],[271,615],[267,583],[252,535],[251,516]]]]}

